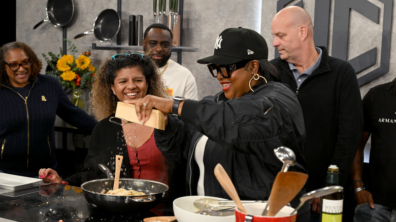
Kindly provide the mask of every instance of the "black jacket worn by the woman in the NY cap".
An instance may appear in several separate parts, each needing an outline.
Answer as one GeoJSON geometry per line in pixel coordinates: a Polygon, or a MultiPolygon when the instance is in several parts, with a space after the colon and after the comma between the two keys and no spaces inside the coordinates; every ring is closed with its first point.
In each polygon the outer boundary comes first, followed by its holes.
{"type": "MultiPolygon", "coordinates": [[[[165,130],[155,130],[159,150],[181,161],[187,159],[187,194],[197,194],[199,167],[194,159],[197,141],[209,139],[204,153],[206,196],[229,199],[213,169],[220,163],[243,200],[267,200],[282,162],[274,149],[287,146],[296,155],[291,171],[306,173],[303,158],[305,129],[300,104],[284,84],[269,82],[241,98],[226,99],[224,92],[201,101],[186,100],[181,120],[170,115],[165,130]]],[[[291,202],[299,203],[305,188],[291,202]]],[[[299,212],[309,210],[309,204],[299,212]]]]}

